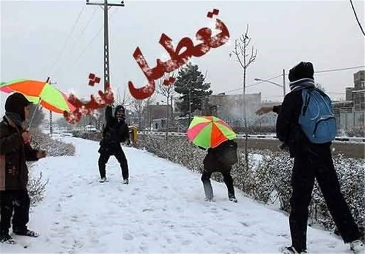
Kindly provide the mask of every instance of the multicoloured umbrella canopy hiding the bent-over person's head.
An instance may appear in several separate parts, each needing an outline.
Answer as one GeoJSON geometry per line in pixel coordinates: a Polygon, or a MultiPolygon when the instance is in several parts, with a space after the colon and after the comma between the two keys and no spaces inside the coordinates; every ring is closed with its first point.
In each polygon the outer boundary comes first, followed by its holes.
{"type": "Polygon", "coordinates": [[[223,120],[215,116],[194,116],[188,128],[188,139],[205,149],[214,148],[237,134],[223,120]]]}

